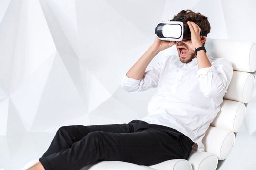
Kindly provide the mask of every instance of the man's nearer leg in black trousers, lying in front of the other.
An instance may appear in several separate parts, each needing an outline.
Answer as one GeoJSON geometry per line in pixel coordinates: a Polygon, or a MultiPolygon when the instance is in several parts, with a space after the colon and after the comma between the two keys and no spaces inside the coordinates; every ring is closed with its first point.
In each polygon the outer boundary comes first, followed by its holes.
{"type": "Polygon", "coordinates": [[[186,159],[191,143],[159,129],[135,133],[94,131],[63,149],[39,160],[46,170],[79,170],[98,160],[119,160],[154,165],[169,159],[186,159]],[[189,145],[184,147],[184,143],[189,145]]]}

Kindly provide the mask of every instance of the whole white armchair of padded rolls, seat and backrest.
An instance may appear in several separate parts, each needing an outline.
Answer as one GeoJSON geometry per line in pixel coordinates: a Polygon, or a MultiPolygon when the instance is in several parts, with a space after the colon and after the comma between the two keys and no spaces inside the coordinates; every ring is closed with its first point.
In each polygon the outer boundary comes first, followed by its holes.
{"type": "Polygon", "coordinates": [[[152,166],[122,161],[100,161],[82,170],[215,170],[218,160],[229,155],[250,101],[256,70],[256,44],[252,42],[207,39],[207,54],[232,62],[233,77],[221,110],[203,139],[205,152],[193,150],[188,160],[174,159],[152,166]]]}

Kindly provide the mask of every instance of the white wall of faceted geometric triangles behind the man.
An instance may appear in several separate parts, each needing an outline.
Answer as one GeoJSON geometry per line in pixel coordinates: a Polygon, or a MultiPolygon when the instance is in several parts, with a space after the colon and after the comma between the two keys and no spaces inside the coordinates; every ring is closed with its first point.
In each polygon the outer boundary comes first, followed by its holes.
{"type": "MultiPolygon", "coordinates": [[[[120,81],[154,41],[158,22],[192,9],[209,18],[209,38],[256,42],[255,6],[254,0],[0,0],[0,135],[142,118],[154,89],[131,94],[120,81]]],[[[160,52],[147,69],[170,53],[177,51],[160,52]]],[[[251,133],[255,102],[254,91],[245,118],[251,133]]]]}

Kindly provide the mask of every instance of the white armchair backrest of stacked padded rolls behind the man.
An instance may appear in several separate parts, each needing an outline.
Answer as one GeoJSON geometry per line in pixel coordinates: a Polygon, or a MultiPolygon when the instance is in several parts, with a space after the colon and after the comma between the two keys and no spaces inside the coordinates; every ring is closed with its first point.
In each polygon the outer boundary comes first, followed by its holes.
{"type": "Polygon", "coordinates": [[[210,124],[203,143],[205,151],[225,159],[235,142],[250,101],[256,70],[256,44],[253,42],[207,39],[207,54],[226,58],[233,66],[233,77],[224,96],[221,110],[210,124]]]}

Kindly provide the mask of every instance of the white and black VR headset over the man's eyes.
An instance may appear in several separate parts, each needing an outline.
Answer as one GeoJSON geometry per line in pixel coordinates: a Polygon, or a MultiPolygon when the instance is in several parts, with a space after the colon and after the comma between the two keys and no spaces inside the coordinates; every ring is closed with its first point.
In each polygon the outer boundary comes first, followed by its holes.
{"type": "MultiPolygon", "coordinates": [[[[155,28],[155,34],[160,40],[164,41],[182,41],[191,39],[190,29],[187,23],[180,20],[184,17],[178,17],[170,21],[160,22],[155,28]]],[[[207,36],[207,33],[201,30],[200,35],[207,36]]]]}

